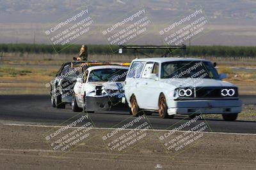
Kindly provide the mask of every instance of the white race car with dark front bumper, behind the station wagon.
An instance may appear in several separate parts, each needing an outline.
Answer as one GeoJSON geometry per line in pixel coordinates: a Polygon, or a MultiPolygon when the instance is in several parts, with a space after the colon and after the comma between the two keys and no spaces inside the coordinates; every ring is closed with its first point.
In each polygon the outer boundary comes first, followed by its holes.
{"type": "Polygon", "coordinates": [[[83,78],[77,78],[72,97],[73,111],[106,111],[115,106],[124,106],[124,80],[129,67],[92,66],[86,69],[83,78]]]}

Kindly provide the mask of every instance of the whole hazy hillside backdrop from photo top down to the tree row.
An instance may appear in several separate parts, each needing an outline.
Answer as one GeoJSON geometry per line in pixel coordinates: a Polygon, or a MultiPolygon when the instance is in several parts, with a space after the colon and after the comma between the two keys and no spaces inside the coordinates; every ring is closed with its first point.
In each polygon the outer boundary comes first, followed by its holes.
{"type": "Polygon", "coordinates": [[[74,11],[86,5],[93,18],[93,32],[77,43],[108,43],[102,36],[102,25],[107,27],[123,20],[132,11],[145,8],[150,17],[147,35],[134,43],[161,44],[159,31],[165,25],[189,15],[196,9],[204,10],[207,24],[204,34],[193,38],[193,45],[255,45],[256,1],[254,0],[183,0],[183,1],[128,1],[128,0],[20,0],[0,1],[0,43],[51,43],[45,31],[74,11]],[[96,29],[97,28],[97,29],[96,29]]]}

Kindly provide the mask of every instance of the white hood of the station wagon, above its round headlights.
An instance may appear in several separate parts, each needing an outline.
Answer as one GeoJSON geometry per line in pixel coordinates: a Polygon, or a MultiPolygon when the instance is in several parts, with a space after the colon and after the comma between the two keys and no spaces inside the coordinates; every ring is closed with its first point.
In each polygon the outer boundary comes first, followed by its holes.
{"type": "Polygon", "coordinates": [[[210,78],[173,78],[160,79],[160,81],[174,87],[236,87],[227,81],[215,80],[210,78]]]}

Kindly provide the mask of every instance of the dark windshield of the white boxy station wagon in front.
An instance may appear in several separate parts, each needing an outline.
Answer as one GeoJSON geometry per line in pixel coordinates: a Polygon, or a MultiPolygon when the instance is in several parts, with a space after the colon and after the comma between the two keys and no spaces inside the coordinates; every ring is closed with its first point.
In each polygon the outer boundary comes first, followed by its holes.
{"type": "Polygon", "coordinates": [[[208,61],[173,61],[162,64],[161,78],[219,78],[219,75],[208,61]]]}

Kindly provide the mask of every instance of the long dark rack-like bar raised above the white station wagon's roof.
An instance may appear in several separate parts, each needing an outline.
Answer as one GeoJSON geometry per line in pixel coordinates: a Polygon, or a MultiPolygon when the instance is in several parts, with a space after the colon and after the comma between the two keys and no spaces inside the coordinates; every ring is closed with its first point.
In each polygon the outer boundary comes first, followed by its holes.
{"type": "Polygon", "coordinates": [[[123,53],[123,49],[132,49],[134,50],[134,55],[141,53],[142,55],[146,55],[147,57],[152,57],[147,53],[140,52],[140,49],[162,49],[165,50],[165,53],[161,57],[168,57],[168,55],[172,55],[173,49],[181,49],[182,55],[186,52],[186,45],[127,45],[120,46],[118,53],[123,53]]]}

